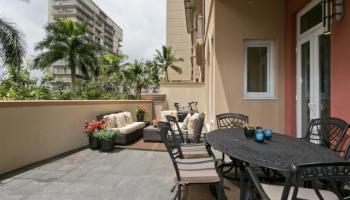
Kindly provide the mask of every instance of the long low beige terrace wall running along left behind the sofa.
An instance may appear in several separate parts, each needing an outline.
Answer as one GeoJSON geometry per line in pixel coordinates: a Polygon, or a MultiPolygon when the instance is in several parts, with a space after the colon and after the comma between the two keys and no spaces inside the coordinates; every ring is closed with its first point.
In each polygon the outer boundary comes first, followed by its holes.
{"type": "Polygon", "coordinates": [[[120,110],[136,120],[139,104],[151,120],[152,101],[0,102],[0,174],[87,145],[86,120],[120,110]]]}

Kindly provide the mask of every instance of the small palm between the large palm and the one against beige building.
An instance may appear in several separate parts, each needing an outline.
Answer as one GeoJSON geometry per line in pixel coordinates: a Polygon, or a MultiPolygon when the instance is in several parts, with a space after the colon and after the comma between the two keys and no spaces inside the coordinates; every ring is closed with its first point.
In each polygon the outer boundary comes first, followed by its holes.
{"type": "Polygon", "coordinates": [[[142,88],[146,88],[152,83],[149,74],[149,68],[138,60],[127,64],[123,70],[124,79],[136,89],[137,99],[141,99],[142,88]]]}

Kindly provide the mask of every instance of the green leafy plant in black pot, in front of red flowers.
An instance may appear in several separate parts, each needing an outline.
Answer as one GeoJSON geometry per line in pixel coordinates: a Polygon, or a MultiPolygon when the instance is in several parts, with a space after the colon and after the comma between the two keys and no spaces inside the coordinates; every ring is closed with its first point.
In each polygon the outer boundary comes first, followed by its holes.
{"type": "Polygon", "coordinates": [[[114,141],[117,137],[117,133],[112,130],[99,130],[94,133],[94,136],[98,138],[101,144],[102,152],[110,152],[114,149],[114,141]]]}

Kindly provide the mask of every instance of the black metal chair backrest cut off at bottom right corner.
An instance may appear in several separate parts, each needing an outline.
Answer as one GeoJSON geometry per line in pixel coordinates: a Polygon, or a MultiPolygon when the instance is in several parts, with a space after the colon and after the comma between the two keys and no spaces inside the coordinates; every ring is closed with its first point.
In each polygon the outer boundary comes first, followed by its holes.
{"type": "Polygon", "coordinates": [[[290,199],[290,190],[292,190],[292,199],[297,199],[298,190],[305,182],[311,182],[319,199],[324,199],[320,193],[320,184],[327,181],[331,190],[341,198],[337,183],[346,182],[350,179],[350,162],[343,163],[314,163],[299,166],[292,166],[291,175],[288,177],[282,199],[290,199]],[[323,181],[323,182],[322,182],[323,181]]]}

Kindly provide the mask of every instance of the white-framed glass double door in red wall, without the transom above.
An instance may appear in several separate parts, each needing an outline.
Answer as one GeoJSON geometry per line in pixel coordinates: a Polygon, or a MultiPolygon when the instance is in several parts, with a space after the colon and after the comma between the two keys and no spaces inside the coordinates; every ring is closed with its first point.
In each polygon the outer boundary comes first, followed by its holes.
{"type": "Polygon", "coordinates": [[[304,137],[311,119],[330,116],[330,36],[314,31],[298,42],[297,131],[304,137]]]}

